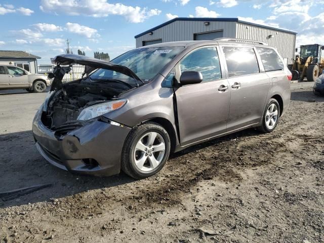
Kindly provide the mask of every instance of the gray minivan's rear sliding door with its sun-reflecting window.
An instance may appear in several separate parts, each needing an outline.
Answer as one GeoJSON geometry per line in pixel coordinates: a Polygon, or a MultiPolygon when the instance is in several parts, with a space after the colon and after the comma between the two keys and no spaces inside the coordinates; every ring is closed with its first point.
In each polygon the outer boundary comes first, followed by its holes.
{"type": "Polygon", "coordinates": [[[227,132],[259,123],[270,80],[260,72],[254,47],[223,46],[231,99],[227,132]]]}

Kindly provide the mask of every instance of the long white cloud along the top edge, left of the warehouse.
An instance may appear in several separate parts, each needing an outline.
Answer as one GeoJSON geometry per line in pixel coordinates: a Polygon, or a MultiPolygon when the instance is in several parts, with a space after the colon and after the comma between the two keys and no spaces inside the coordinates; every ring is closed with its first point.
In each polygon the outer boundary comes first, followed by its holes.
{"type": "Polygon", "coordinates": [[[145,19],[159,15],[158,9],[126,6],[124,4],[109,4],[107,0],[41,0],[44,12],[63,13],[67,15],[85,15],[92,17],[107,17],[108,15],[124,16],[129,22],[140,23],[145,19]]]}

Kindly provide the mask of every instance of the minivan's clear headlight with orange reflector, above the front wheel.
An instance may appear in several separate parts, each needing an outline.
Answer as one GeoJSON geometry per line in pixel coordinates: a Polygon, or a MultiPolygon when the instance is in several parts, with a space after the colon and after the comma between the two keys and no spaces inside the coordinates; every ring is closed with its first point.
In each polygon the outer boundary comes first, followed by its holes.
{"type": "Polygon", "coordinates": [[[117,110],[126,104],[127,100],[114,100],[105,103],[92,105],[82,110],[78,115],[78,120],[90,120],[110,111],[117,110]]]}

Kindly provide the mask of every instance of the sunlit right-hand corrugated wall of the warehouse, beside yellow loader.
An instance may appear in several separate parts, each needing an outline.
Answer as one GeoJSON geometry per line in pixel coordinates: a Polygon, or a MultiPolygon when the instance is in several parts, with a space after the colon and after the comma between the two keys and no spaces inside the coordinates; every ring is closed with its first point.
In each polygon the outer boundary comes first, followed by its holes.
{"type": "Polygon", "coordinates": [[[282,58],[288,58],[288,64],[293,63],[296,47],[296,34],[294,33],[236,23],[236,38],[265,42],[269,46],[275,47],[282,58]],[[269,38],[269,35],[272,37],[269,38]]]}

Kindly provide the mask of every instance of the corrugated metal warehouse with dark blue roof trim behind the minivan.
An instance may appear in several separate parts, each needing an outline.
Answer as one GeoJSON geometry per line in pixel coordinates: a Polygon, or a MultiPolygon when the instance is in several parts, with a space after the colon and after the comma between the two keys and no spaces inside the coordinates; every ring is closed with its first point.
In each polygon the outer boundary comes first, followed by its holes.
{"type": "Polygon", "coordinates": [[[136,47],[163,42],[220,37],[251,39],[275,47],[287,64],[295,56],[297,32],[241,21],[238,18],[175,18],[135,36],[136,47]]]}

